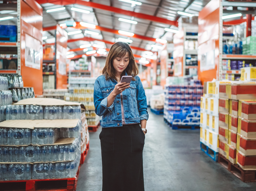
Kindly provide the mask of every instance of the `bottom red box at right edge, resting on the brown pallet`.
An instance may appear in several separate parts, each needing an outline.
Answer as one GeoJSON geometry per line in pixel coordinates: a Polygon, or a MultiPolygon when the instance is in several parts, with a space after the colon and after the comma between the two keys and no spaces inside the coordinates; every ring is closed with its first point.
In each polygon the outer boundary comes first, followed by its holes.
{"type": "Polygon", "coordinates": [[[237,164],[243,170],[256,170],[256,156],[245,156],[239,151],[237,153],[237,164]]]}

